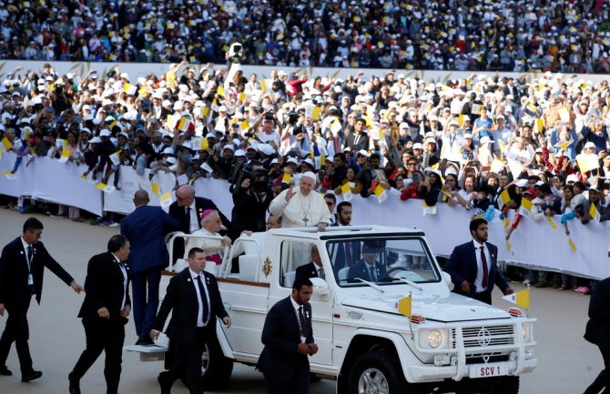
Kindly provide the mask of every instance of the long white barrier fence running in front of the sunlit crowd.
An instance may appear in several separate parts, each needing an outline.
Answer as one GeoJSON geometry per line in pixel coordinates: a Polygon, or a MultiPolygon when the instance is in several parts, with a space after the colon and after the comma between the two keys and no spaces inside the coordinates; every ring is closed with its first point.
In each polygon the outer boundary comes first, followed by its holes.
{"type": "MultiPolygon", "coordinates": [[[[0,158],[0,172],[10,171],[15,163],[15,154],[0,158]]],[[[152,178],[158,184],[158,193],[153,193],[147,173],[140,177],[131,167],[121,167],[119,187],[111,193],[97,189],[97,185],[81,178],[86,167],[71,163],[59,163],[47,157],[37,158],[29,167],[25,163],[15,174],[15,179],[0,176],[0,193],[9,196],[33,196],[69,206],[80,207],[101,215],[104,210],[127,214],[134,209],[133,196],[138,188],[148,191],[151,204],[159,205],[159,197],[171,192],[175,185],[172,174],[159,173],[152,178]],[[103,203],[102,203],[103,200],[103,203]]],[[[112,179],[112,177],[111,177],[112,179]]],[[[112,182],[109,182],[110,184],[112,182]]],[[[224,180],[198,179],[194,185],[197,196],[212,199],[219,209],[231,217],[233,201],[229,184],[224,180]]],[[[338,197],[338,202],[342,197],[338,197]]],[[[448,256],[454,246],[470,240],[468,222],[472,213],[462,207],[440,204],[437,215],[423,216],[422,201],[401,201],[389,197],[379,203],[376,197],[354,197],[353,225],[387,225],[421,228],[432,245],[432,250],[448,256]]],[[[489,241],[498,247],[499,260],[519,265],[531,265],[550,270],[576,273],[591,278],[610,277],[610,259],[607,256],[610,230],[607,224],[589,222],[582,225],[578,220],[569,223],[570,238],[575,250],[570,248],[564,227],[559,217],[554,217],[553,228],[545,219],[534,222],[524,217],[510,239],[510,250],[504,240],[503,220],[494,218],[490,223],[489,241]]]]}

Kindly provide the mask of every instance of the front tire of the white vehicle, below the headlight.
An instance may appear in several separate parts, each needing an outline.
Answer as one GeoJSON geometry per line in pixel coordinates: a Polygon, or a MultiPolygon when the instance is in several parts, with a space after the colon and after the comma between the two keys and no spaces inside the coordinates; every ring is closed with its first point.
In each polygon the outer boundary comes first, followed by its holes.
{"type": "Polygon", "coordinates": [[[362,354],[351,367],[348,394],[406,394],[407,382],[400,365],[387,350],[362,354]]]}

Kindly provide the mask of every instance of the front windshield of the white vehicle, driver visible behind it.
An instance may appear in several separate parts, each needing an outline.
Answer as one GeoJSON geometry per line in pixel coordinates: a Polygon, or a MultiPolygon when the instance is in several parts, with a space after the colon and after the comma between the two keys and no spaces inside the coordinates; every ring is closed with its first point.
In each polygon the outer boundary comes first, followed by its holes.
{"type": "Polygon", "coordinates": [[[326,248],[334,277],[341,287],[366,286],[362,280],[381,286],[441,280],[422,238],[330,240],[326,248]]]}

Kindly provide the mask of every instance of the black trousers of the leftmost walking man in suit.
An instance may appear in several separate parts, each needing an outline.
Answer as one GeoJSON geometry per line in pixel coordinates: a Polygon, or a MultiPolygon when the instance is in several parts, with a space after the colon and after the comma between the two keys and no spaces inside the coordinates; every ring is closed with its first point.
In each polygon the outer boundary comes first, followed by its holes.
{"type": "Polygon", "coordinates": [[[6,318],[5,331],[0,338],[0,366],[6,364],[8,352],[11,350],[13,342],[15,342],[22,376],[29,375],[32,372],[32,356],[30,356],[30,348],[27,344],[27,339],[30,338],[27,310],[30,308],[31,299],[32,296],[25,293],[17,301],[5,304],[8,318],[6,318]]]}

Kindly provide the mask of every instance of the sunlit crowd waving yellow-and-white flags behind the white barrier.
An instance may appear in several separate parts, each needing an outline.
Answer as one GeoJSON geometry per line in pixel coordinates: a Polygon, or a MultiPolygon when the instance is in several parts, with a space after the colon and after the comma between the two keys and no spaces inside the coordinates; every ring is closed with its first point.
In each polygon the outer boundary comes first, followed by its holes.
{"type": "MultiPolygon", "coordinates": [[[[115,68],[105,80],[57,76],[49,64],[18,72],[0,90],[0,146],[17,153],[14,174],[36,157],[64,156],[117,189],[122,166],[139,175],[150,168],[151,179],[159,171],[190,183],[227,179],[232,237],[264,231],[271,199],[308,172],[341,199],[422,199],[432,210],[446,204],[488,218],[497,209],[514,217],[506,239],[524,215],[559,216],[566,234],[610,218],[607,81],[545,73],[434,84],[394,71],[341,80],[281,69],[262,78],[184,63],[138,78],[115,68]]],[[[35,207],[2,198],[21,212],[35,207]]],[[[86,217],[75,207],[43,211],[86,217]]],[[[107,213],[96,223],[117,221],[107,213]]],[[[523,274],[539,287],[574,287],[567,276],[523,274]]]]}

